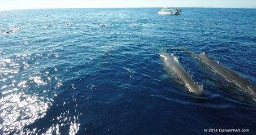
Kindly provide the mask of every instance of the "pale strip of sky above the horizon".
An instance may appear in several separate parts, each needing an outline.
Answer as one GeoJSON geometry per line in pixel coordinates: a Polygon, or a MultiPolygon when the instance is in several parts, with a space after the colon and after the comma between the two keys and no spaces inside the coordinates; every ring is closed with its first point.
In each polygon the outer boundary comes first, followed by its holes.
{"type": "Polygon", "coordinates": [[[0,0],[0,10],[164,6],[256,8],[256,0],[0,0]]]}

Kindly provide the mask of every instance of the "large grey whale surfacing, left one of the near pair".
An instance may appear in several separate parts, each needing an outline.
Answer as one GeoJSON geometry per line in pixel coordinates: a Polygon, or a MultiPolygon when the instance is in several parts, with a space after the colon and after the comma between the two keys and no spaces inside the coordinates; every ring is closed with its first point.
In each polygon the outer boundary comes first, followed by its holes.
{"type": "Polygon", "coordinates": [[[164,67],[171,78],[183,85],[187,92],[203,95],[203,90],[189,77],[180,63],[167,53],[161,53],[160,57],[163,59],[164,67]]]}

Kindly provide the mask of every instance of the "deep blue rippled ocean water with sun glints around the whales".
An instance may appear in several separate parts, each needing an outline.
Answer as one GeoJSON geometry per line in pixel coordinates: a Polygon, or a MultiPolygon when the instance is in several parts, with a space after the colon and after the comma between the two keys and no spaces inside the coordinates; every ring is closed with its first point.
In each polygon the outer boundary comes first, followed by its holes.
{"type": "Polygon", "coordinates": [[[160,9],[0,11],[0,134],[256,134],[248,96],[186,53],[255,85],[256,9],[160,9]],[[168,78],[163,51],[204,97],[168,78]]]}

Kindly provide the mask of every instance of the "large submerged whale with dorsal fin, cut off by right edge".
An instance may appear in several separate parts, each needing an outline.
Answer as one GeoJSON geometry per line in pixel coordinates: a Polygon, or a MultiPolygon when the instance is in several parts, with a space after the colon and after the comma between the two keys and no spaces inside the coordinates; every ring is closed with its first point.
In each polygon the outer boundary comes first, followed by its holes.
{"type": "Polygon", "coordinates": [[[231,82],[231,84],[237,86],[238,89],[253,95],[254,98],[256,97],[256,89],[248,80],[243,79],[231,69],[215,62],[215,60],[209,58],[205,52],[197,54],[197,56],[200,62],[203,62],[211,71],[217,73],[228,82],[231,82]]]}

